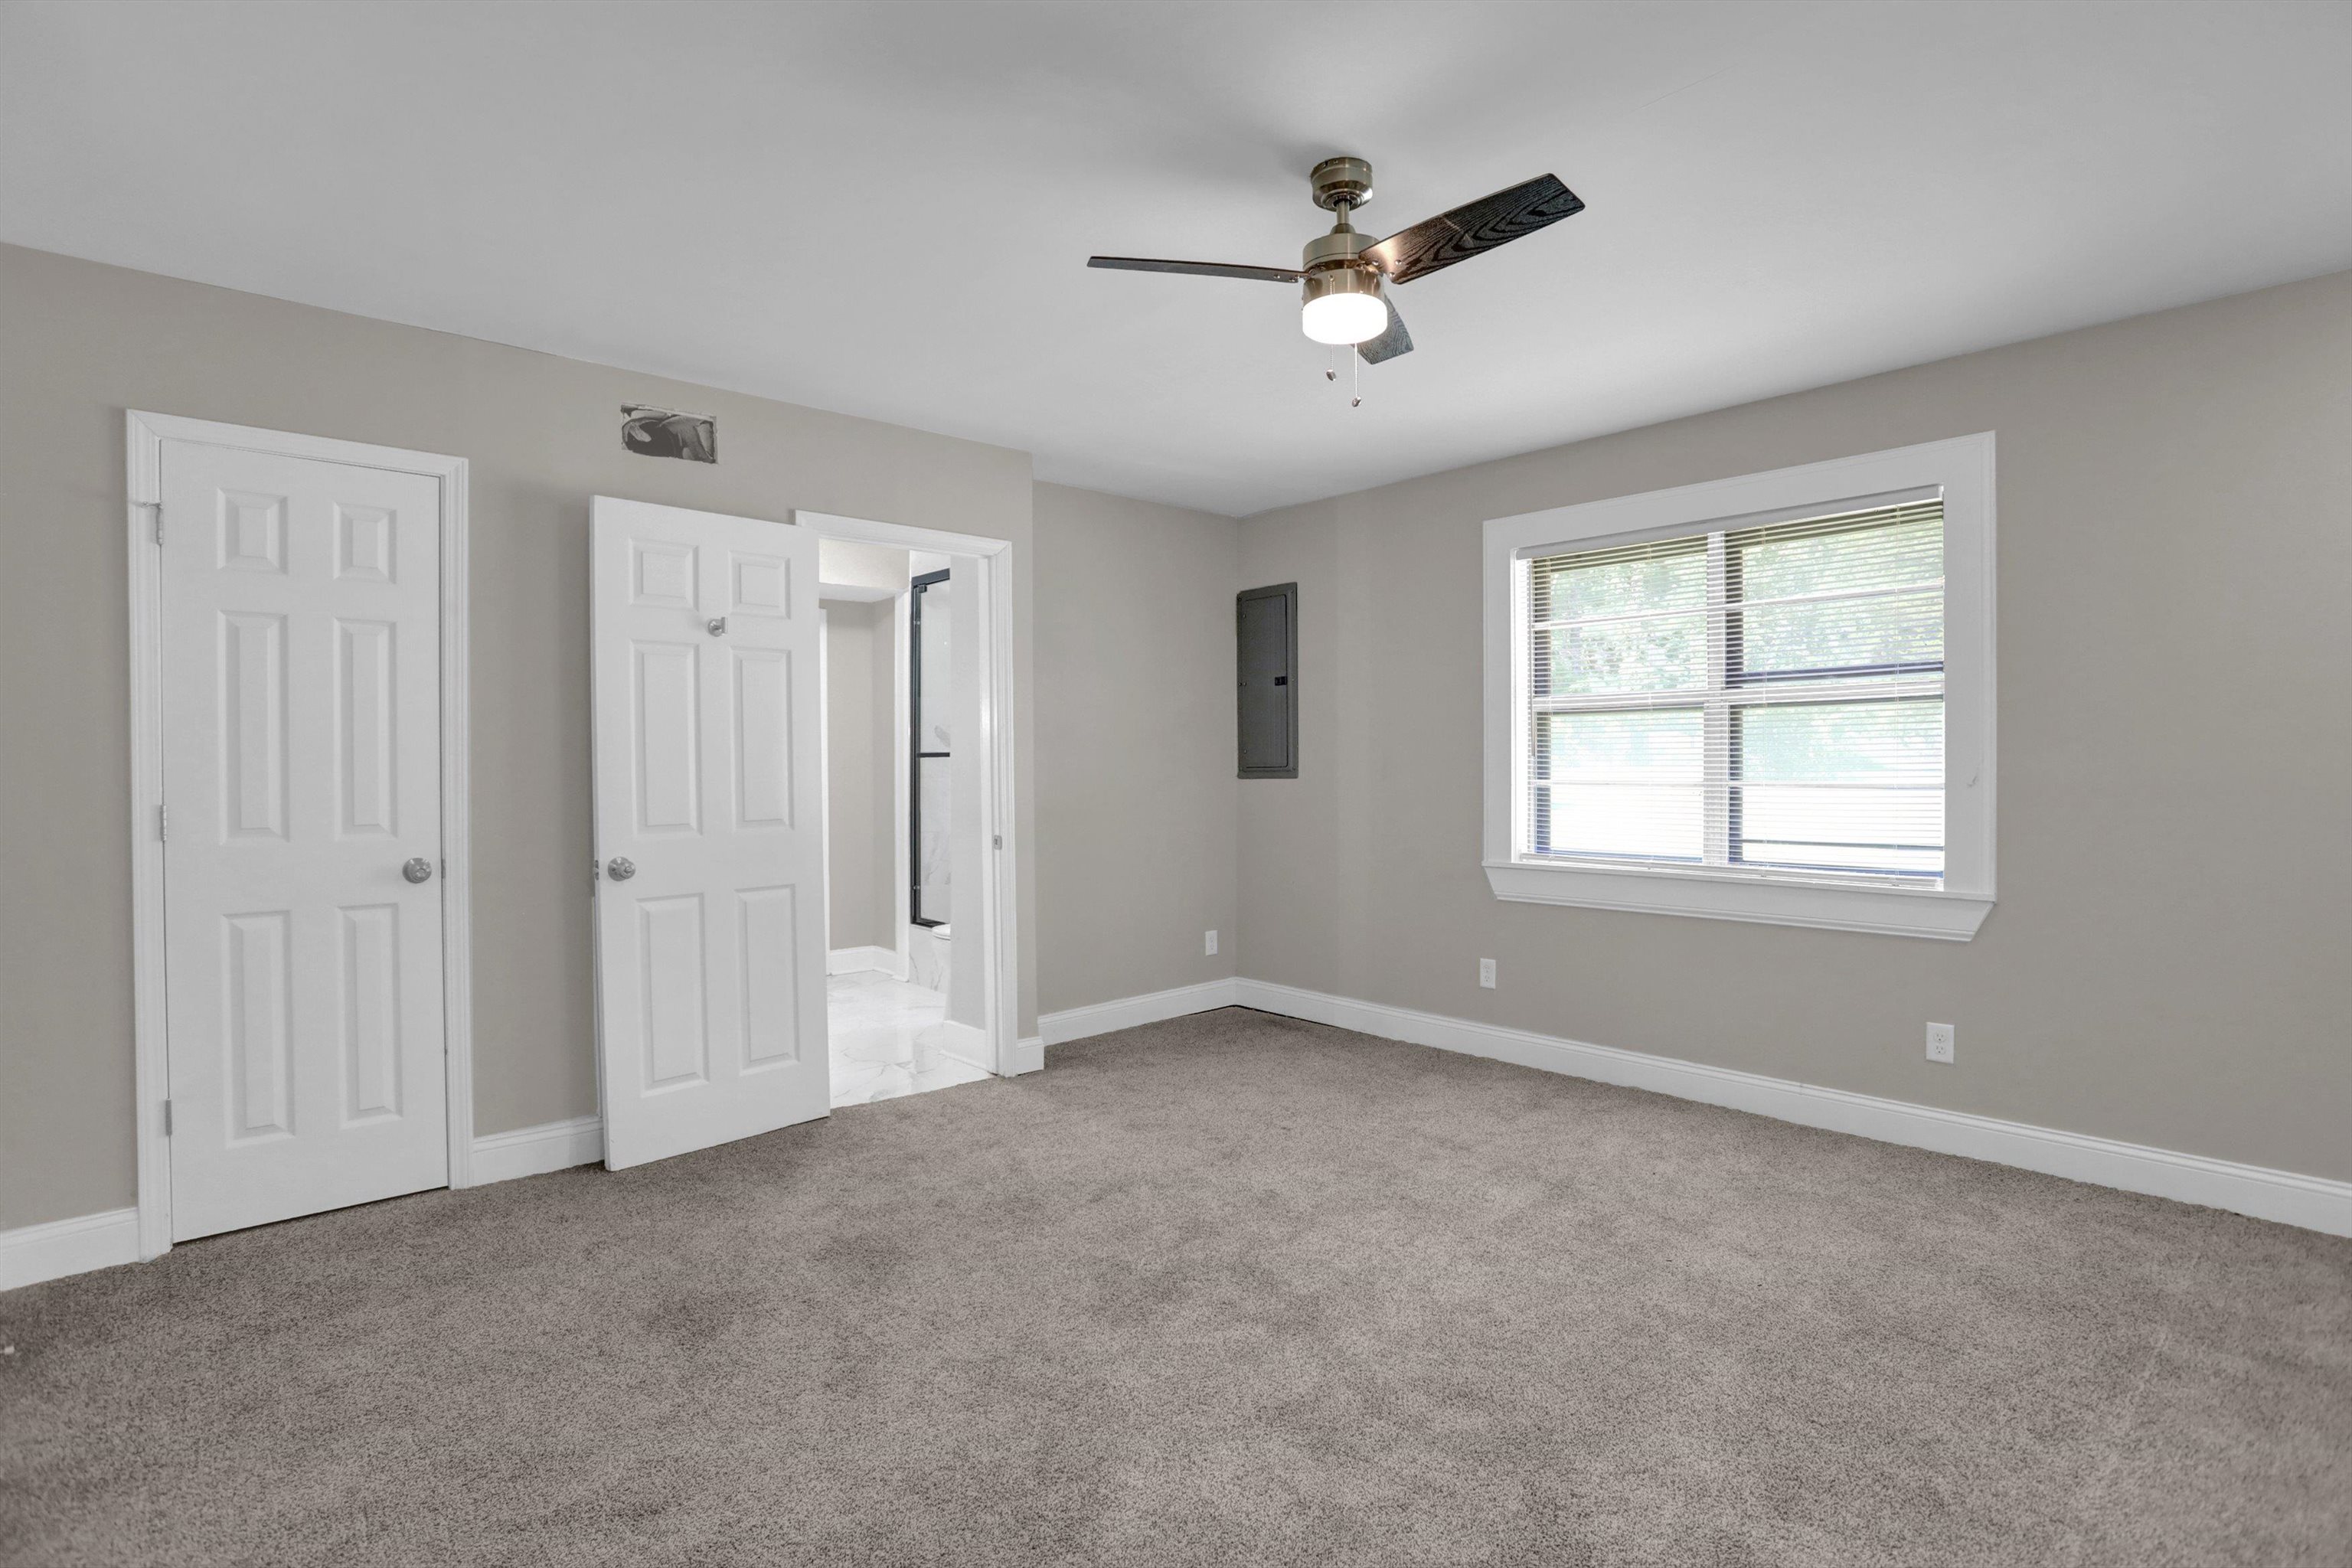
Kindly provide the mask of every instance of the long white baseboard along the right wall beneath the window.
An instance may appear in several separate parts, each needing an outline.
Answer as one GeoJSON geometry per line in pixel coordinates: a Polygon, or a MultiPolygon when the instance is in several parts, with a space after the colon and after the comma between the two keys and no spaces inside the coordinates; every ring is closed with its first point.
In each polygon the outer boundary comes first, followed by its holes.
{"type": "MultiPolygon", "coordinates": [[[[1136,1001],[1152,999],[1138,997],[1136,1001]]],[[[1877,1138],[1879,1143],[1936,1150],[1938,1154],[1962,1154],[1997,1166],[2044,1171],[2077,1182],[2147,1192],[2183,1204],[2206,1204],[2258,1220],[2328,1232],[2331,1237],[2352,1237],[2352,1182],[2324,1175],[2241,1166],[2227,1159],[2206,1159],[2204,1154],[2180,1154],[2140,1143],[2065,1133],[2051,1126],[1936,1110],[1933,1105],[1912,1105],[1907,1100],[1884,1100],[1844,1088],[1797,1084],[1795,1079],[1769,1079],[1757,1072],[1708,1067],[1670,1056],[1588,1046],[1576,1039],[1557,1039],[1529,1030],[1505,1030],[1491,1023],[1327,997],[1270,980],[1237,980],[1235,1004],[1258,1009],[1261,1013],[1329,1023],[1359,1034],[1404,1039],[1416,1046],[1489,1056],[1503,1063],[1519,1063],[1522,1067],[1543,1067],[1545,1072],[1649,1088],[1682,1100],[1729,1105],[1731,1110],[1776,1117],[1799,1126],[1820,1126],[1835,1133],[1877,1138]]]]}

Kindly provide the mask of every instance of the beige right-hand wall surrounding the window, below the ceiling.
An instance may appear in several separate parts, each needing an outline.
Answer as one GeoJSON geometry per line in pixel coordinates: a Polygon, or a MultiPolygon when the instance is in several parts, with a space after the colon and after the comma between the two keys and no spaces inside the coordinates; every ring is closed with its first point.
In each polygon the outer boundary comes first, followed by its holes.
{"type": "Polygon", "coordinates": [[[1235,585],[1294,576],[1303,762],[1242,788],[1242,973],[2352,1178],[2352,273],[1247,520],[1235,585]],[[2002,766],[1973,943],[1489,893],[1486,517],[1971,430],[2002,766]]]}

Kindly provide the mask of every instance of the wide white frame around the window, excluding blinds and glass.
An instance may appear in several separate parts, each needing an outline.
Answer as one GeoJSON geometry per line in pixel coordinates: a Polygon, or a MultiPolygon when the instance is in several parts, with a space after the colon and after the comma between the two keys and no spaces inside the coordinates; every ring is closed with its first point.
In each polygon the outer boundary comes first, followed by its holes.
{"type": "Polygon", "coordinates": [[[1486,884],[1512,903],[1696,914],[1964,943],[1992,912],[1992,433],[1830,463],[1559,505],[1486,522],[1486,884]],[[1771,870],[1564,865],[1526,853],[1529,639],[1519,562],[1795,517],[1943,498],[1943,813],[1940,889],[1839,884],[1771,870]]]}

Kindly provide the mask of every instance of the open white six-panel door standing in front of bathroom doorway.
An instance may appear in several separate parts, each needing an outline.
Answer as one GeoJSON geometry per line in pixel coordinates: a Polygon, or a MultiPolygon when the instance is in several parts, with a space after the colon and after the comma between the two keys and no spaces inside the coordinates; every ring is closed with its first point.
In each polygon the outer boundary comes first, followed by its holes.
{"type": "Polygon", "coordinates": [[[828,1110],[816,536],[595,498],[612,1168],[828,1110]]]}

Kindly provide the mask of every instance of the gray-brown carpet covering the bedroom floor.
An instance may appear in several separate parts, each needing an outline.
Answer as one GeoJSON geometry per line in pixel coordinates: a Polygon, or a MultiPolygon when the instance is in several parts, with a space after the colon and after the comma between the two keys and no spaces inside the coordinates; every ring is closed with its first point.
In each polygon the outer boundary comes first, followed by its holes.
{"type": "Polygon", "coordinates": [[[2352,1241],[1247,1011],[0,1340],[7,1563],[2352,1561],[2352,1241]]]}

